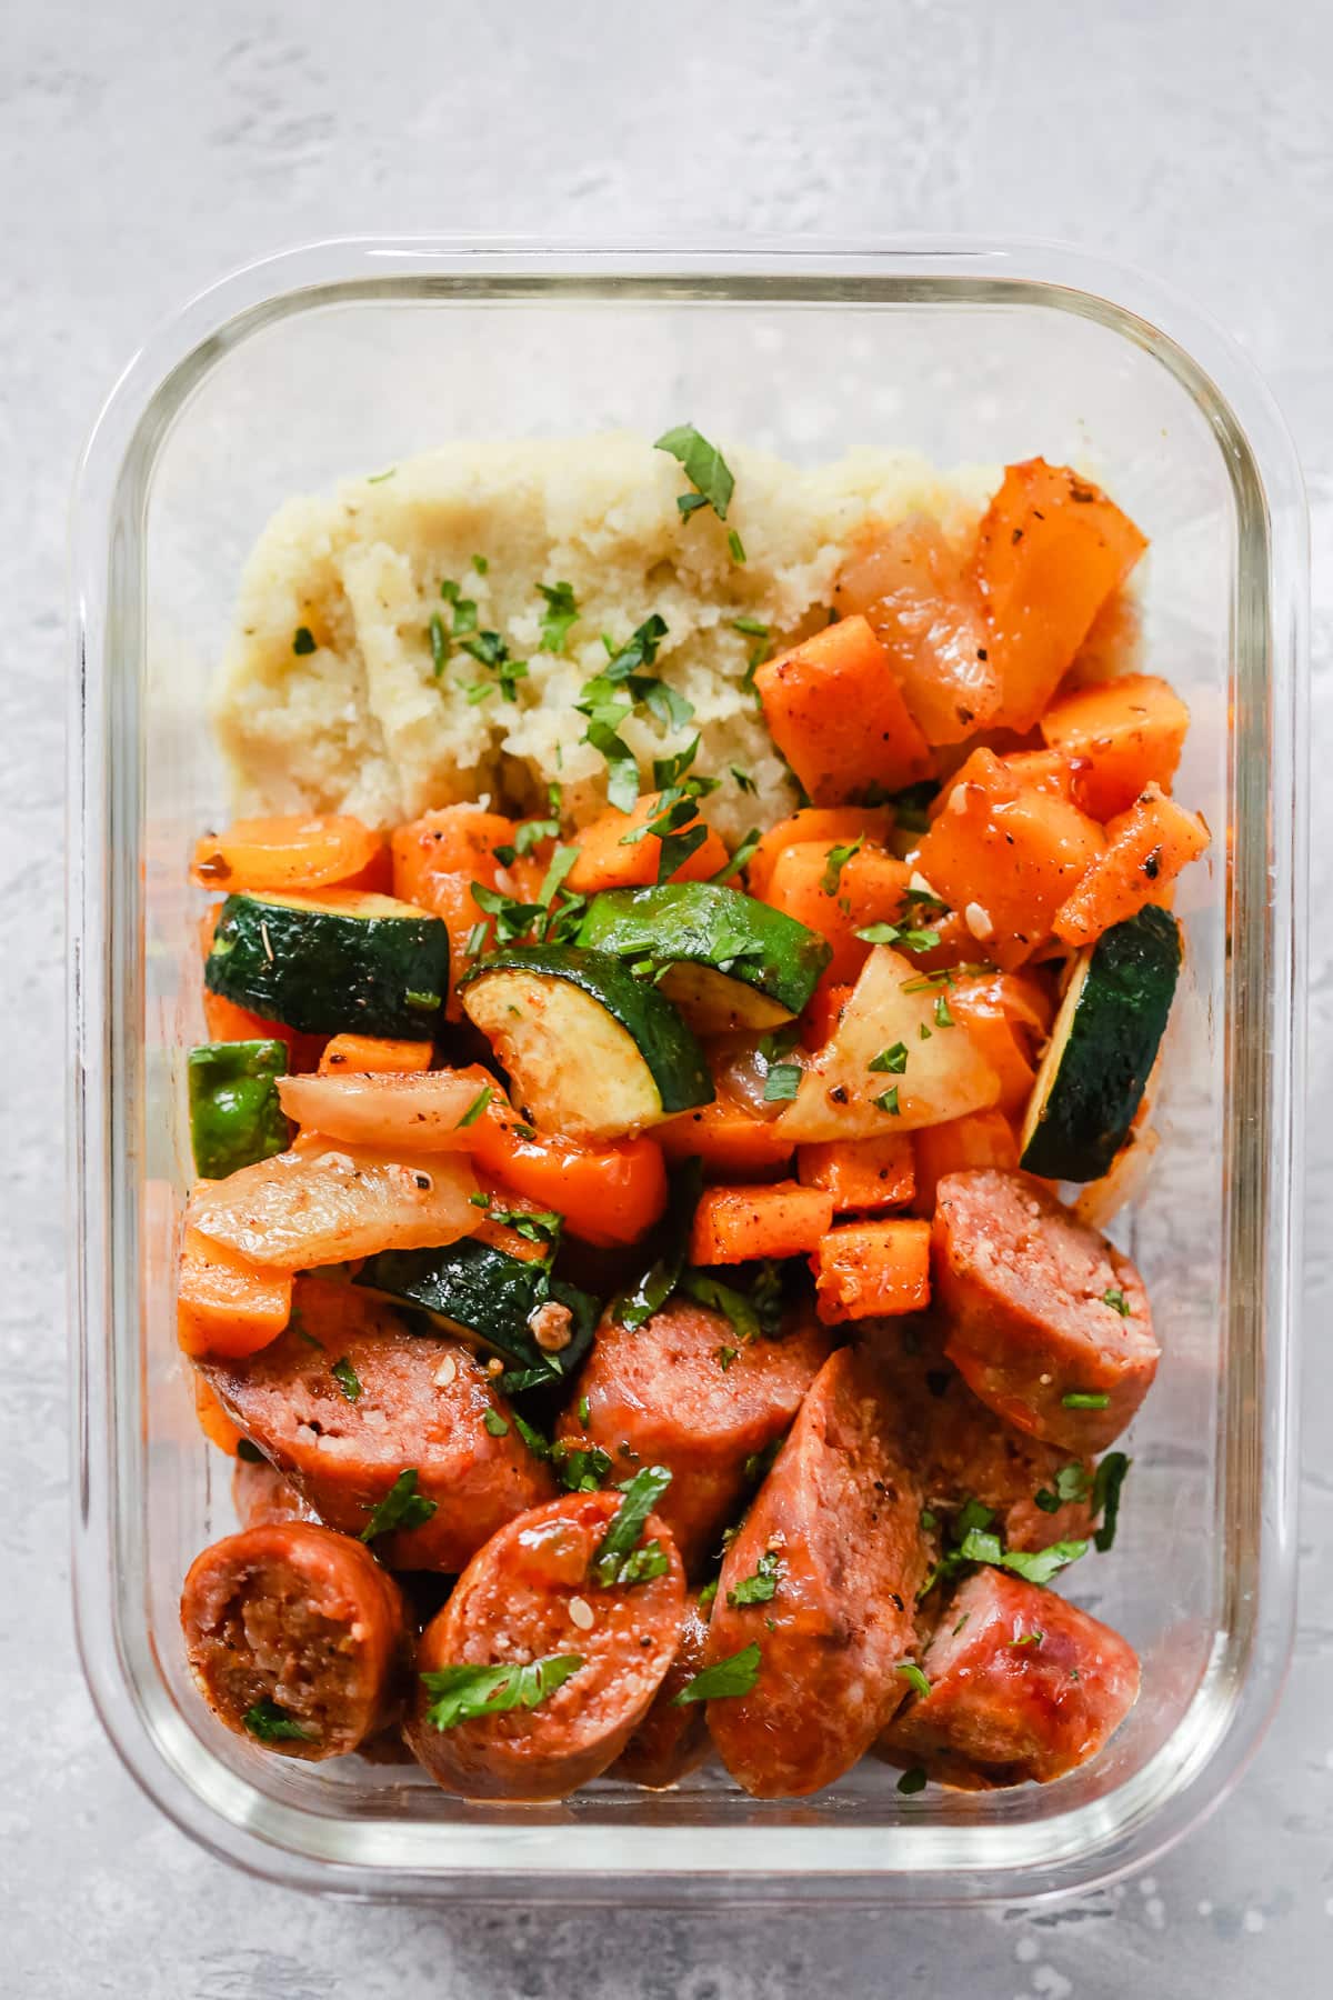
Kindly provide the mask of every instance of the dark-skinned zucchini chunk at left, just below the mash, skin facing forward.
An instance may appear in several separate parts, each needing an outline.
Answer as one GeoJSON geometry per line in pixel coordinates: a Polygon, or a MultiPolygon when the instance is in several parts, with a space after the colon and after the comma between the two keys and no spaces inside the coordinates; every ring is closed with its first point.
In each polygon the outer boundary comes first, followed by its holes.
{"type": "Polygon", "coordinates": [[[450,990],[450,932],[416,904],[362,890],[228,896],[204,984],[302,1034],[420,1040],[450,990]]]}

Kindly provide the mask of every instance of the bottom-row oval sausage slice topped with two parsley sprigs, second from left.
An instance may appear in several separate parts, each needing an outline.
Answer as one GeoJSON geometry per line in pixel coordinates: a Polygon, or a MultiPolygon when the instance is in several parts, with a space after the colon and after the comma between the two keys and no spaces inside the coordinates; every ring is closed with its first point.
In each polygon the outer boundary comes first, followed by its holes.
{"type": "Polygon", "coordinates": [[[420,1674],[576,1656],[582,1666],[534,1708],[430,1720],[436,1692],[418,1680],[408,1742],[446,1792],[464,1798],[564,1798],[616,1762],[679,1646],[685,1572],[666,1522],[648,1516],[640,1546],[667,1566],[604,1588],[594,1558],[622,1496],[568,1494],[502,1528],[422,1634],[420,1674]]]}

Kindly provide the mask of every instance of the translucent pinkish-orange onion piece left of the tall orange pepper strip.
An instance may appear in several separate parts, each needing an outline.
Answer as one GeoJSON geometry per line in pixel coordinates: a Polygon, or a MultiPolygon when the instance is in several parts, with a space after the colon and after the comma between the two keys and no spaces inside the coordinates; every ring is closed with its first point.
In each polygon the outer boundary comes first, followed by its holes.
{"type": "Polygon", "coordinates": [[[863,528],[833,602],[843,616],[865,614],[927,742],[961,742],[999,708],[981,594],[937,522],[915,514],[863,528]]]}

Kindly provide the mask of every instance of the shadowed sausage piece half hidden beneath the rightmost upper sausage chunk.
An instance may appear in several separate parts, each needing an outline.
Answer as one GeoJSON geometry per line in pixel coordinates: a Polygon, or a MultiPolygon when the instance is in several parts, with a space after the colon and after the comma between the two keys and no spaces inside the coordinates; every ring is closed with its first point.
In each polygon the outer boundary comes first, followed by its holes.
{"type": "Polygon", "coordinates": [[[947,1526],[965,1500],[979,1500],[995,1516],[991,1526],[1007,1548],[1035,1550],[1089,1534],[1089,1458],[1029,1438],[987,1410],[945,1358],[943,1330],[923,1320],[883,1320],[875,1324],[879,1332],[883,1342],[875,1340],[875,1354],[893,1384],[907,1458],[939,1526],[947,1526]],[[1065,1488],[1073,1484],[1085,1498],[1055,1504],[1061,1472],[1065,1488]]]}

